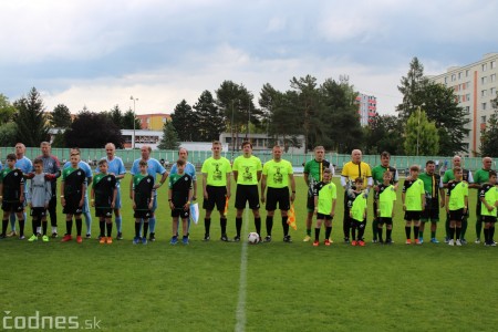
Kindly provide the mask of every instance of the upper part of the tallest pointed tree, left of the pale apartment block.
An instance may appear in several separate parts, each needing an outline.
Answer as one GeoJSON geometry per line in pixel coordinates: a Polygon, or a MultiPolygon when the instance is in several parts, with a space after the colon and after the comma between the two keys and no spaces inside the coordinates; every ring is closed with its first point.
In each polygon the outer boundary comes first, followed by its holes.
{"type": "Polygon", "coordinates": [[[407,120],[417,107],[423,104],[423,95],[428,79],[424,75],[424,65],[415,56],[409,63],[409,70],[406,76],[401,80],[397,90],[403,94],[403,102],[397,105],[396,111],[403,120],[407,120]]]}

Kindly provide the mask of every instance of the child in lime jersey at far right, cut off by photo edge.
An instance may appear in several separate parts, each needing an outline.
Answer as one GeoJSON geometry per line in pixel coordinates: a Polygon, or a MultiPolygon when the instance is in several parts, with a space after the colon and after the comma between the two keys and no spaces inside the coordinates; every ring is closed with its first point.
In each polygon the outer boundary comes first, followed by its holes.
{"type": "Polygon", "coordinates": [[[495,224],[497,219],[498,207],[498,189],[496,188],[496,172],[489,170],[489,183],[484,184],[479,190],[479,199],[481,203],[480,216],[485,222],[485,246],[496,247],[495,240],[495,224]]]}

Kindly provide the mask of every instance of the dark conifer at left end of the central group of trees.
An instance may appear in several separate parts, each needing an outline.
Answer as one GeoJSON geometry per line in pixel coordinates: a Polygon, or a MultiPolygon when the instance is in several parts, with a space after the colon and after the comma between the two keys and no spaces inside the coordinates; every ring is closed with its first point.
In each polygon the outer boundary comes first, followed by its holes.
{"type": "Polygon", "coordinates": [[[199,141],[198,117],[186,100],[183,100],[175,106],[172,114],[172,123],[181,142],[199,141]]]}

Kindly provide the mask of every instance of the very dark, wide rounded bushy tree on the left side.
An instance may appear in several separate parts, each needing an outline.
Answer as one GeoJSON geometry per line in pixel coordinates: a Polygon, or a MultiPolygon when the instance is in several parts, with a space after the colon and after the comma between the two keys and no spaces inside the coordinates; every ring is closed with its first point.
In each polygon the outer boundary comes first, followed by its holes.
{"type": "Polygon", "coordinates": [[[97,148],[106,143],[123,147],[121,129],[104,113],[92,113],[85,108],[77,114],[71,127],[64,132],[69,146],[97,148]]]}

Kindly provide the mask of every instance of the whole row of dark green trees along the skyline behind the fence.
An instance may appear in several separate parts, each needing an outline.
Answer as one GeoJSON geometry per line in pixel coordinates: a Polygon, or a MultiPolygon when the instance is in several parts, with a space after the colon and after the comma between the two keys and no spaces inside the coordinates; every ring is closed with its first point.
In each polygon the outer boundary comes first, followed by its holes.
{"type": "MultiPolygon", "coordinates": [[[[428,80],[417,58],[409,64],[398,86],[403,102],[396,115],[377,115],[361,127],[354,86],[347,80],[328,79],[321,84],[307,75],[292,77],[287,91],[270,83],[255,95],[243,84],[224,81],[214,92],[204,91],[190,106],[180,101],[164,126],[159,148],[177,148],[179,142],[210,142],[220,133],[247,136],[268,133],[284,142],[286,147],[311,149],[323,145],[329,151],[350,153],[362,148],[367,154],[388,151],[397,155],[455,155],[466,152],[463,138],[469,133],[469,116],[458,106],[452,87],[428,80]]],[[[481,135],[483,154],[498,153],[498,96],[495,114],[481,135]]],[[[122,146],[120,129],[139,127],[132,110],[123,113],[116,105],[110,111],[93,113],[83,107],[72,120],[70,110],[58,105],[50,117],[43,101],[33,87],[28,96],[9,103],[0,94],[0,144],[23,142],[37,146],[46,139],[50,127],[64,129],[58,134],[55,146],[101,147],[106,142],[122,146]]]]}

